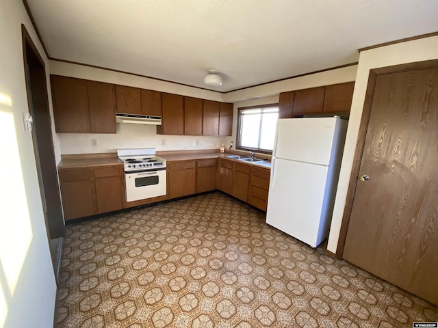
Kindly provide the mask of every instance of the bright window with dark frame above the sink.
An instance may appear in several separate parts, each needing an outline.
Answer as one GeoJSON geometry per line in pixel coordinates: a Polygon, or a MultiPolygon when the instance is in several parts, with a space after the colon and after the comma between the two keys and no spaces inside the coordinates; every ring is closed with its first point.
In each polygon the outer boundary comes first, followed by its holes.
{"type": "Polygon", "coordinates": [[[242,107],[238,111],[237,149],[272,153],[274,149],[277,104],[242,107]]]}

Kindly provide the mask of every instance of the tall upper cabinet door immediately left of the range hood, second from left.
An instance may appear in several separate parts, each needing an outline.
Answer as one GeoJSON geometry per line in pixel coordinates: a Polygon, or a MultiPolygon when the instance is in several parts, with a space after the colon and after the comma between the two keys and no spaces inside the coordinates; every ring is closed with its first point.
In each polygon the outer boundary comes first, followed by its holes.
{"type": "Polygon", "coordinates": [[[116,133],[116,87],[87,81],[88,109],[92,133],[116,133]]]}

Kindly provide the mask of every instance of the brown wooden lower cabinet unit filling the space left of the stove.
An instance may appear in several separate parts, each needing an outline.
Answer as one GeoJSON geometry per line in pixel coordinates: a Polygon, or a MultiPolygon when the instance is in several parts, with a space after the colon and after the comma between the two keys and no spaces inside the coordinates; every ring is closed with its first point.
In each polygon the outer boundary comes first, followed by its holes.
{"type": "Polygon", "coordinates": [[[72,220],[123,208],[123,167],[61,169],[64,219],[72,220]]]}

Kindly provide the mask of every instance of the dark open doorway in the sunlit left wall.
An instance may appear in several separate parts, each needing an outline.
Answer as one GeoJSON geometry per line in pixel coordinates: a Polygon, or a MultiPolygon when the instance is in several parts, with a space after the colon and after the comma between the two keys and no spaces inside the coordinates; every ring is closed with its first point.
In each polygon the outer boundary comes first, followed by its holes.
{"type": "Polygon", "coordinates": [[[65,227],[53,149],[46,70],[44,61],[24,25],[21,25],[21,32],[23,38],[27,102],[31,118],[33,119],[31,125],[36,169],[38,172],[38,182],[40,184],[40,195],[49,238],[53,270],[57,277],[62,241],[65,236],[65,227]]]}

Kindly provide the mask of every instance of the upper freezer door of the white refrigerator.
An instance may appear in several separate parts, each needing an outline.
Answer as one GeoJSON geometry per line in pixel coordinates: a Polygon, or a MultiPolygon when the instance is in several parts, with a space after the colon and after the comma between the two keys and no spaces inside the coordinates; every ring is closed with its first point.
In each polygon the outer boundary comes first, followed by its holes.
{"type": "Polygon", "coordinates": [[[329,165],[339,118],[285,118],[277,120],[272,156],[329,165]]]}

